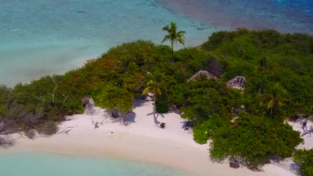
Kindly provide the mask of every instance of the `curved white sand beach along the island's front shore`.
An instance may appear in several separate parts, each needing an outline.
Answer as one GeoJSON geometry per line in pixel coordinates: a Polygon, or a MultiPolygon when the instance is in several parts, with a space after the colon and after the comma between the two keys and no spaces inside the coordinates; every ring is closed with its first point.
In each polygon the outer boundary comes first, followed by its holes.
{"type": "MultiPolygon", "coordinates": [[[[184,120],[175,113],[160,114],[158,120],[166,128],[156,126],[152,116],[152,102],[142,101],[129,114],[128,126],[110,119],[95,129],[92,120],[101,122],[104,110],[97,115],[79,114],[67,117],[60,124],[60,132],[49,137],[28,139],[15,134],[15,151],[40,151],[68,155],[107,156],[136,162],[150,163],[173,169],[180,169],[193,175],[294,175],[290,171],[269,164],[264,172],[247,168],[233,169],[227,162],[213,163],[208,154],[209,145],[199,145],[193,140],[191,131],[182,128],[184,120]]],[[[1,149],[3,151],[3,149],[1,149]]]]}

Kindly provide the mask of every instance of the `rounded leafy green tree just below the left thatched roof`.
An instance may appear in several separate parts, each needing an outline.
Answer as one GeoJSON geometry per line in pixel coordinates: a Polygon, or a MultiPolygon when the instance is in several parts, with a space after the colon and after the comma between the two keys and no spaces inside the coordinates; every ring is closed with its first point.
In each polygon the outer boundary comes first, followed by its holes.
{"type": "Polygon", "coordinates": [[[193,121],[196,126],[212,117],[227,119],[231,109],[240,104],[237,102],[240,102],[238,91],[228,89],[225,82],[207,79],[204,75],[190,81],[185,94],[187,102],[181,108],[182,118],[193,121]]]}

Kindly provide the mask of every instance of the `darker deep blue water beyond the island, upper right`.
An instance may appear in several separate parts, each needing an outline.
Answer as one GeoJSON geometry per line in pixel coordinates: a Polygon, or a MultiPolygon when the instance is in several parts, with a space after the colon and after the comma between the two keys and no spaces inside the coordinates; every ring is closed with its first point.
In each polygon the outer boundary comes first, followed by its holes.
{"type": "Polygon", "coordinates": [[[276,29],[313,34],[312,0],[160,0],[203,24],[223,28],[276,29]]]}

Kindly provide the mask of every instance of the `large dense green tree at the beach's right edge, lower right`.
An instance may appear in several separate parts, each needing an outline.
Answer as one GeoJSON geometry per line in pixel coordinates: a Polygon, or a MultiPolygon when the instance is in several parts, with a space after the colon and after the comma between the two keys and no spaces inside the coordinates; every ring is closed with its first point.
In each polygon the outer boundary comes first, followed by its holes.
{"type": "Polygon", "coordinates": [[[265,116],[241,114],[227,128],[216,128],[212,139],[211,156],[223,160],[236,157],[242,164],[254,166],[273,158],[290,157],[293,149],[303,142],[300,132],[288,124],[265,116]]]}

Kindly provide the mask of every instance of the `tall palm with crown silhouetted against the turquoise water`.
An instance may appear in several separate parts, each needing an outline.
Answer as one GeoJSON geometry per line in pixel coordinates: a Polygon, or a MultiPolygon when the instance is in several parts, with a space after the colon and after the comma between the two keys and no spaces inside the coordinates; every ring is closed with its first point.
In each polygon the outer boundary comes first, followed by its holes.
{"type": "Polygon", "coordinates": [[[186,32],[185,31],[177,32],[176,29],[177,29],[176,23],[173,23],[173,22],[170,23],[170,26],[167,25],[167,26],[164,26],[162,28],[162,30],[166,31],[167,34],[166,34],[166,36],[164,37],[164,39],[162,40],[161,43],[170,40],[170,43],[171,43],[171,46],[172,46],[172,62],[173,63],[174,63],[174,51],[173,51],[174,42],[175,42],[175,44],[177,44],[177,41],[178,41],[179,43],[185,45],[184,33],[186,33],[186,32]]]}

